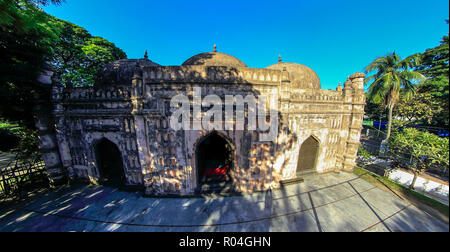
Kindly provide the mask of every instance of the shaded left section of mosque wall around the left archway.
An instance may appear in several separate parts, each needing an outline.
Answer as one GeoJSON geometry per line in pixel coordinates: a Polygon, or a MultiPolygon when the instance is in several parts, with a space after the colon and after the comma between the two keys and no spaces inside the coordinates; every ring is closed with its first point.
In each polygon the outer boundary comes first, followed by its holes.
{"type": "Polygon", "coordinates": [[[61,159],[69,176],[99,179],[95,145],[106,138],[122,153],[127,183],[142,184],[129,88],[54,88],[53,92],[61,159]]]}

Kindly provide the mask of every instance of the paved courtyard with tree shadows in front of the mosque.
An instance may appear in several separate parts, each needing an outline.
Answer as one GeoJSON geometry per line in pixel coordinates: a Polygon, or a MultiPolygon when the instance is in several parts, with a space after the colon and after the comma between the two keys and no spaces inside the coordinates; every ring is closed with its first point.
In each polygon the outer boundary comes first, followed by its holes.
{"type": "Polygon", "coordinates": [[[447,223],[351,173],[244,196],[146,198],[67,186],[0,205],[0,231],[449,231],[447,223]]]}

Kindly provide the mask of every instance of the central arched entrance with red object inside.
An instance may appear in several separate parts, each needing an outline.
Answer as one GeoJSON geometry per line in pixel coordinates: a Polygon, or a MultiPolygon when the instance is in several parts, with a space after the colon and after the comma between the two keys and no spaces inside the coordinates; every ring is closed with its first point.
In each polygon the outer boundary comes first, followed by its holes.
{"type": "Polygon", "coordinates": [[[197,181],[200,191],[223,191],[231,184],[234,147],[217,132],[203,137],[197,144],[197,181]]]}

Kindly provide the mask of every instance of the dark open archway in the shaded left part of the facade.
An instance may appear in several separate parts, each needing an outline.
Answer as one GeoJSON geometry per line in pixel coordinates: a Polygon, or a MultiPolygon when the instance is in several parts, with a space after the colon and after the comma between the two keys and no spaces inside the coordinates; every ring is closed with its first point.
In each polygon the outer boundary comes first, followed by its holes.
{"type": "Polygon", "coordinates": [[[106,138],[95,145],[97,168],[100,172],[100,183],[119,187],[125,184],[122,154],[119,148],[106,138]]]}

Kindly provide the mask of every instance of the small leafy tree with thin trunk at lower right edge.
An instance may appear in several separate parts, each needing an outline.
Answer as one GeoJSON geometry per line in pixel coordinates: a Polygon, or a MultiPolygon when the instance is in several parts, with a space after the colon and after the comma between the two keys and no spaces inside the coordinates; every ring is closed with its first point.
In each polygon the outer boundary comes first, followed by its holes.
{"type": "Polygon", "coordinates": [[[395,132],[388,143],[391,154],[399,162],[407,163],[414,173],[410,188],[414,189],[417,177],[431,166],[449,166],[449,139],[414,128],[395,132]],[[409,160],[409,161],[406,161],[409,160]]]}

